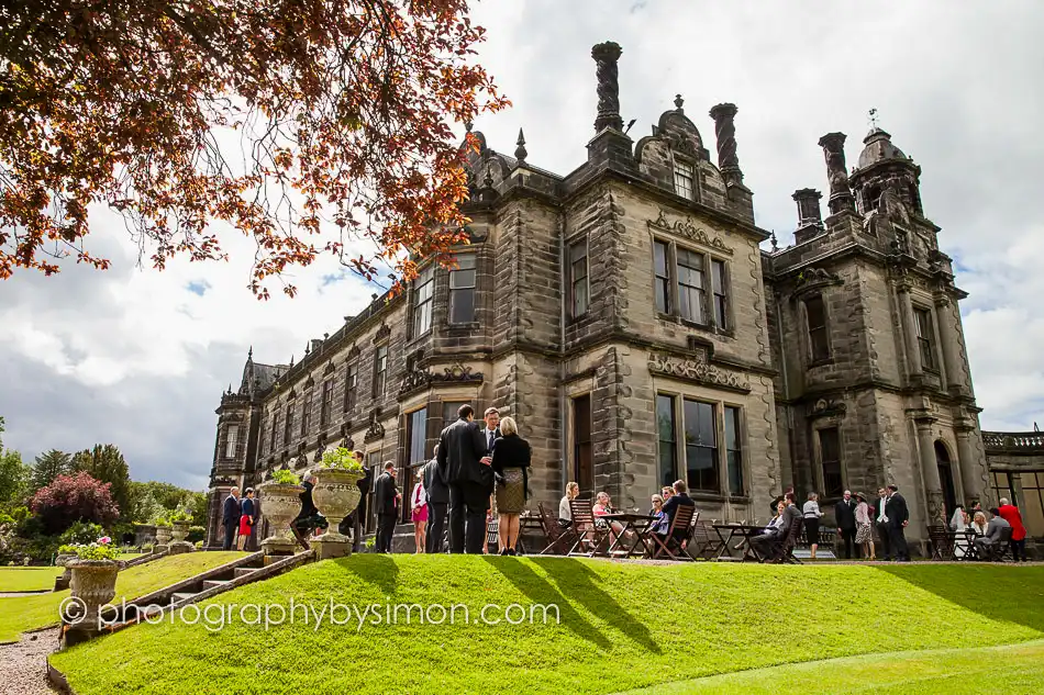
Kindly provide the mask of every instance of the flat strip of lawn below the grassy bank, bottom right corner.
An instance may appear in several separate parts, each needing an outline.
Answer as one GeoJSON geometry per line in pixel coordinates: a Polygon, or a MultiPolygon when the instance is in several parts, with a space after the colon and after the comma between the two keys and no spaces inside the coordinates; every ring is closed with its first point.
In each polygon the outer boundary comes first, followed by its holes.
{"type": "Polygon", "coordinates": [[[812,661],[656,685],[621,695],[900,695],[913,691],[918,695],[951,695],[976,691],[986,683],[1002,684],[999,688],[1007,695],[1044,693],[1044,641],[812,661]]]}

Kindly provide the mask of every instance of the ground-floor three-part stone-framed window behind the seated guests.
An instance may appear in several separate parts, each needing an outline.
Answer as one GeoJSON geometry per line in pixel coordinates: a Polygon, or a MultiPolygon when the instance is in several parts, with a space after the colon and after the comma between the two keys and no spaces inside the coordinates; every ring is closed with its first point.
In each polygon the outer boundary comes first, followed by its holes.
{"type": "MultiPolygon", "coordinates": [[[[714,437],[715,437],[715,464],[718,469],[718,491],[709,490],[697,490],[692,486],[689,486],[689,496],[693,500],[704,500],[711,502],[734,502],[746,504],[751,501],[749,486],[751,481],[753,480],[751,470],[749,470],[749,433],[747,429],[747,410],[746,406],[737,401],[732,401],[726,397],[720,397],[718,395],[709,395],[704,391],[686,391],[678,389],[677,386],[667,386],[657,385],[655,391],[656,396],[667,396],[671,399],[674,407],[674,425],[677,431],[675,431],[675,480],[684,480],[688,484],[688,461],[686,458],[686,441],[685,441],[685,401],[696,401],[699,403],[706,403],[712,405],[714,411],[714,437]],[[732,407],[736,408],[738,412],[740,419],[740,430],[736,435],[736,438],[740,444],[740,477],[744,484],[744,491],[740,494],[733,493],[730,489],[729,482],[729,449],[725,441],[725,408],[732,407]]],[[[657,431],[656,431],[656,467],[657,475],[659,474],[659,423],[657,422],[657,431]]],[[[655,492],[659,492],[659,487],[655,492]]]]}

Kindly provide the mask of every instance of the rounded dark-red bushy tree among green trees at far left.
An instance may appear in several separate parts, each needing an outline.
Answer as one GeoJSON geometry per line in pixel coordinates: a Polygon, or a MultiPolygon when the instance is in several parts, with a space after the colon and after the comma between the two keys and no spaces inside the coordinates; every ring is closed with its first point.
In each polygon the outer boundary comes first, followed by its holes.
{"type": "Polygon", "coordinates": [[[108,526],[120,516],[110,487],[110,483],[99,482],[86,471],[75,477],[58,475],[36,492],[32,509],[49,535],[60,534],[76,522],[108,526]]]}

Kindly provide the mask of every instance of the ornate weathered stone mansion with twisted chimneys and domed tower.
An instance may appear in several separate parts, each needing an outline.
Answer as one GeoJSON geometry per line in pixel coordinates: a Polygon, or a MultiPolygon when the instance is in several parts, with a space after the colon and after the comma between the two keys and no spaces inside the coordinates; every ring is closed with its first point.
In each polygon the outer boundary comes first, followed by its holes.
{"type": "Polygon", "coordinates": [[[893,481],[920,538],[991,494],[965,294],[921,209],[920,167],[875,128],[849,173],[845,136],[824,135],[830,214],[797,191],[795,245],[765,250],[736,108],[710,110],[717,157],[680,97],[634,142],[620,54],[592,51],[587,161],[559,176],[526,161],[521,132],[513,157],[476,133],[456,268],[427,265],[297,363],[247,359],[216,411],[211,545],[233,484],[342,442],[395,461],[408,492],[462,403],[518,421],[532,508],[570,480],[646,508],[680,478],[703,517],[764,520],[791,484],[829,509],[845,487],[893,481]]]}

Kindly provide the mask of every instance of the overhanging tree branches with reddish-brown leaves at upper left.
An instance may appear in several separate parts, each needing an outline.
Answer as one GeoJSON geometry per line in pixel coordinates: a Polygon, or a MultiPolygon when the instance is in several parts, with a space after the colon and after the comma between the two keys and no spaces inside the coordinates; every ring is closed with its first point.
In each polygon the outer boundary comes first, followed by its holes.
{"type": "Polygon", "coordinates": [[[224,258],[234,227],[259,298],[324,253],[410,276],[403,251],[463,238],[452,123],[508,103],[467,0],[21,0],[0,25],[0,279],[107,268],[91,204],[157,268],[224,258]]]}

